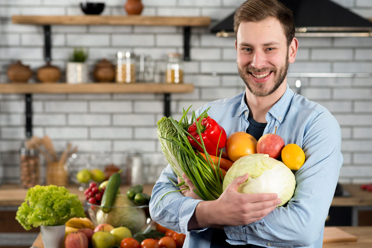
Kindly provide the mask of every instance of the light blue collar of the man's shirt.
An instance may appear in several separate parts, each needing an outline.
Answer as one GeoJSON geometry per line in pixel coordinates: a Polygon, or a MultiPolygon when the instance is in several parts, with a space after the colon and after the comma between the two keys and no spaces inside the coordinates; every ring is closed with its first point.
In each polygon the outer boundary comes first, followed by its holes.
{"type": "MultiPolygon", "coordinates": [[[[289,103],[292,100],[293,95],[294,95],[294,92],[289,88],[289,85],[287,84],[287,88],[285,89],[284,94],[274,104],[274,106],[269,110],[268,114],[272,115],[274,118],[276,118],[279,121],[279,123],[281,123],[284,120],[284,117],[289,109],[289,103]]],[[[245,92],[244,92],[241,98],[241,101],[240,101],[240,106],[237,109],[235,115],[241,116],[244,114],[245,111],[248,111],[249,113],[248,106],[245,102],[245,92]]]]}

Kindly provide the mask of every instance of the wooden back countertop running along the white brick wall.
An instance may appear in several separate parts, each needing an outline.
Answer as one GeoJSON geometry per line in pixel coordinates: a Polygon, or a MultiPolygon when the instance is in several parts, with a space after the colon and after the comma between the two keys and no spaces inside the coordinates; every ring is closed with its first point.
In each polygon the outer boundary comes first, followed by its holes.
{"type": "MultiPolygon", "coordinates": [[[[151,194],[153,184],[144,185],[144,192],[151,194]]],[[[129,185],[121,186],[121,192],[126,192],[129,185]]],[[[350,197],[334,197],[332,206],[372,206],[372,192],[362,190],[360,184],[343,184],[350,197]]],[[[66,187],[71,193],[77,194],[84,202],[84,191],[79,191],[78,185],[66,187]]],[[[18,184],[4,184],[0,186],[0,206],[19,206],[26,196],[27,189],[18,184]]]]}

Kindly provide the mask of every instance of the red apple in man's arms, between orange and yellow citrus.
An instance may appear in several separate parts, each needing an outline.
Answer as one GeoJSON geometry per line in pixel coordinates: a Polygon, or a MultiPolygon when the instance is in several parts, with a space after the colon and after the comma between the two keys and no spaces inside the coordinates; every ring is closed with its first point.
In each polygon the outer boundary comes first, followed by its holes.
{"type": "Polygon", "coordinates": [[[257,153],[269,154],[269,157],[277,159],[285,146],[284,140],[276,134],[265,134],[257,142],[257,153]]]}

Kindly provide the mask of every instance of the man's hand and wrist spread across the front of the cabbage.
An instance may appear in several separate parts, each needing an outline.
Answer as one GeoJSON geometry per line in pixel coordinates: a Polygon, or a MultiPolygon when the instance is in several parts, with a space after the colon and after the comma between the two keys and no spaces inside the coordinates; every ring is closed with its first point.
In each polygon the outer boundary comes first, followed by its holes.
{"type": "Polygon", "coordinates": [[[245,194],[238,187],[248,179],[248,173],[235,178],[214,201],[202,201],[188,222],[188,229],[216,225],[240,226],[261,220],[281,202],[275,193],[245,194]]]}

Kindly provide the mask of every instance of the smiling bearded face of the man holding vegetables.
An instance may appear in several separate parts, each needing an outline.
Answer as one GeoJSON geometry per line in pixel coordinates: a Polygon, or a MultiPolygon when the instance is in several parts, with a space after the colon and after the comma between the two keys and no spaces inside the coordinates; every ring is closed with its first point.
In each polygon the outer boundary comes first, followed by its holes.
{"type": "Polygon", "coordinates": [[[297,47],[294,54],[292,44],[288,49],[279,20],[241,22],[235,46],[240,77],[254,95],[270,95],[286,82],[288,62],[294,62],[297,47]]]}

